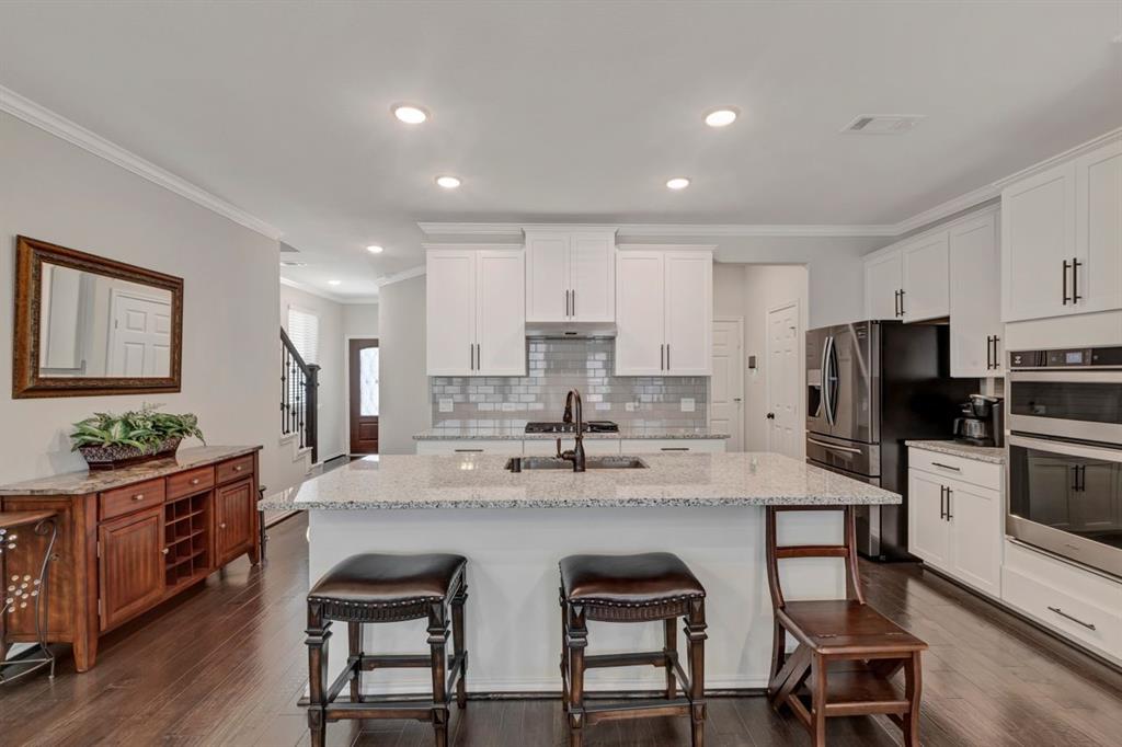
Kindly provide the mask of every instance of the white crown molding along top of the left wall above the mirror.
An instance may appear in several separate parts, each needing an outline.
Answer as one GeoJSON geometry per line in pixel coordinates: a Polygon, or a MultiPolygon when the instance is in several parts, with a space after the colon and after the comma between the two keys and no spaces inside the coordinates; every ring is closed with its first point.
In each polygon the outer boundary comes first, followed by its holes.
{"type": "Polygon", "coordinates": [[[105,160],[120,166],[123,169],[142,176],[154,184],[158,184],[165,190],[169,190],[181,197],[202,205],[208,210],[227,218],[234,223],[268,237],[274,241],[280,239],[282,231],[269,225],[259,218],[250,215],[240,208],[218,197],[205,190],[195,186],[184,178],[160,168],[151,162],[145,160],[129,150],[126,150],[116,142],[111,142],[100,135],[95,135],[76,122],[57,114],[46,107],[40,107],[30,99],[21,96],[11,89],[0,85],[0,111],[6,111],[12,117],[24,120],[28,125],[38,127],[45,132],[49,132],[57,138],[66,140],[72,145],[100,156],[105,160]]]}

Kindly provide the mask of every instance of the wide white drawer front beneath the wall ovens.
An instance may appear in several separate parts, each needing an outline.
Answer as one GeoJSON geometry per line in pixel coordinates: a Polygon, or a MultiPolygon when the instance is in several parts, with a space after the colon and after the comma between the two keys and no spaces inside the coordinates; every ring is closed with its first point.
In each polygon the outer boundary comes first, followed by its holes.
{"type": "Polygon", "coordinates": [[[1005,566],[1002,599],[1049,628],[1115,658],[1122,657],[1122,617],[1005,566]]]}

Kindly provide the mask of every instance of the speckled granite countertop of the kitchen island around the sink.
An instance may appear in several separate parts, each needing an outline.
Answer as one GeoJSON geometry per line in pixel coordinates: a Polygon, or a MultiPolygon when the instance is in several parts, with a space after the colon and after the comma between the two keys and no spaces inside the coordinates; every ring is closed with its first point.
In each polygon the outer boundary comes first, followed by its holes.
{"type": "Polygon", "coordinates": [[[383,455],[258,504],[267,510],[899,504],[900,496],[772,453],[644,454],[650,469],[508,472],[506,457],[383,455]]]}

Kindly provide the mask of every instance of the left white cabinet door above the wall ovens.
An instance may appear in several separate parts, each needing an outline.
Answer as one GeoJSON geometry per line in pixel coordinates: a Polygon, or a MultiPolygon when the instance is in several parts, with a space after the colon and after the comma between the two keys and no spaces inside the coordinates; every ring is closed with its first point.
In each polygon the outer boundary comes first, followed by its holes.
{"type": "Polygon", "coordinates": [[[1001,195],[1002,316],[1005,322],[1076,313],[1070,302],[1075,257],[1075,164],[1008,187],[1001,195]]]}

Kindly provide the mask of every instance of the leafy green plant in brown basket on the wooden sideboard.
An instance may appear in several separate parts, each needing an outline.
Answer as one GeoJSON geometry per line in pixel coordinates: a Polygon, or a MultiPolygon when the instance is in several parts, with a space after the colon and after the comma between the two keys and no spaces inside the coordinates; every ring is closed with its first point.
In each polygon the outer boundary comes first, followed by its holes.
{"type": "Polygon", "coordinates": [[[171,457],[183,439],[203,441],[197,416],[160,413],[158,407],[144,405],[122,415],[94,413],[74,423],[70,436],[74,451],[82,453],[90,469],[112,469],[171,457]]]}

